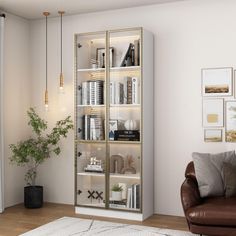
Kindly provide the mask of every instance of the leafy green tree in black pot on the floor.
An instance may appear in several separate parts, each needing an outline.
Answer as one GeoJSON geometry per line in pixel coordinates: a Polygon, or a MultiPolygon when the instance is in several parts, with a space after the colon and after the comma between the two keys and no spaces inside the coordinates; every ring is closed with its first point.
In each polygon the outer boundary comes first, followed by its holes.
{"type": "Polygon", "coordinates": [[[34,136],[17,144],[11,144],[11,163],[26,166],[25,181],[28,186],[24,188],[24,204],[27,208],[39,208],[43,205],[43,186],[36,185],[37,168],[54,153],[61,152],[60,139],[66,138],[73,128],[71,117],[56,122],[50,133],[46,134],[47,122],[41,119],[33,108],[27,111],[29,122],[34,136]]]}

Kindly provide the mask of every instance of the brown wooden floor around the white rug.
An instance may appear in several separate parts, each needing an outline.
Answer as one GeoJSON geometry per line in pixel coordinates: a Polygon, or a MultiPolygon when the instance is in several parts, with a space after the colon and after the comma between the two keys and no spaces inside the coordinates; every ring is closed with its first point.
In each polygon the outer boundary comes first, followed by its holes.
{"type": "Polygon", "coordinates": [[[72,205],[45,203],[44,207],[40,209],[26,209],[22,204],[7,208],[3,214],[0,214],[0,236],[19,235],[63,216],[188,230],[185,218],[183,217],[153,215],[143,222],[127,221],[77,215],[74,213],[74,206],[72,205]]]}

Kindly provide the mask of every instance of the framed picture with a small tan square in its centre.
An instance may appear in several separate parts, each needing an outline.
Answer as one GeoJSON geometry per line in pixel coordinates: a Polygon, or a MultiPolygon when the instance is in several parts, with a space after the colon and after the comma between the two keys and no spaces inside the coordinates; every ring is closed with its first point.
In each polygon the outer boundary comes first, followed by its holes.
{"type": "Polygon", "coordinates": [[[203,99],[202,125],[203,127],[223,127],[224,99],[203,99]]]}

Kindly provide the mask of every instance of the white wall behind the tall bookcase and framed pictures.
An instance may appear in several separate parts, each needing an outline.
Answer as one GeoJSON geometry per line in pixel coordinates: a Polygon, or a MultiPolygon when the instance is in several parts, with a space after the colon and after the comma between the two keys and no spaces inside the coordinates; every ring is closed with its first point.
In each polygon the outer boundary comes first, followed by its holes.
{"type": "MultiPolygon", "coordinates": [[[[59,19],[49,19],[51,123],[73,116],[73,34],[143,26],[155,36],[155,212],[182,215],[180,185],[193,151],[218,152],[234,144],[203,142],[201,68],[236,68],[236,2],[189,0],[64,18],[66,95],[57,94],[60,65],[59,19]],[[227,2],[227,3],[226,3],[227,2]]],[[[57,9],[55,9],[56,11],[57,9]]],[[[45,21],[31,22],[32,99],[41,114],[45,83],[45,21]]],[[[63,153],[41,167],[45,200],[73,203],[73,135],[63,153]]]]}

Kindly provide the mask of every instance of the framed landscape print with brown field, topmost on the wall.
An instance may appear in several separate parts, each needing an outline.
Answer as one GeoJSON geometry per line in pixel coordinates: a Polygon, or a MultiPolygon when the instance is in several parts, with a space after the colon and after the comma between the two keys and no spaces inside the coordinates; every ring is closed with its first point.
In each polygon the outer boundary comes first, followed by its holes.
{"type": "Polygon", "coordinates": [[[232,96],[233,68],[202,69],[202,96],[232,96]]]}

